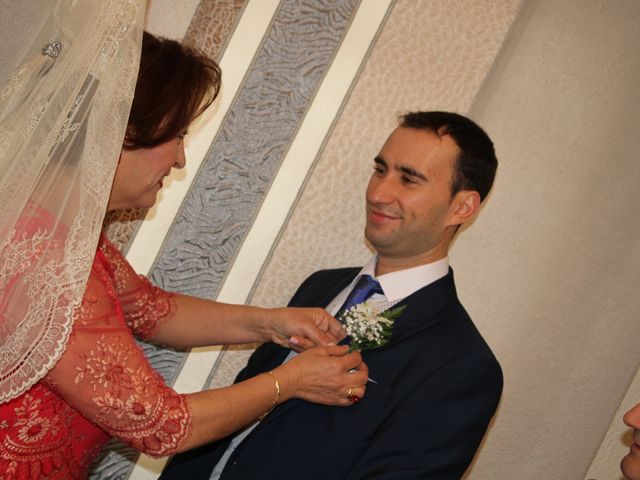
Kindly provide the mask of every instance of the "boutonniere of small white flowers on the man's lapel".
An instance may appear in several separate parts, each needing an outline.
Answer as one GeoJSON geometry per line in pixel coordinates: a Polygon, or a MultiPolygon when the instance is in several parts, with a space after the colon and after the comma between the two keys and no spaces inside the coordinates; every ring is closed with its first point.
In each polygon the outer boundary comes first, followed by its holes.
{"type": "Polygon", "coordinates": [[[393,322],[406,305],[380,312],[369,302],[354,305],[340,315],[347,335],[351,337],[349,351],[381,347],[391,338],[393,322]]]}

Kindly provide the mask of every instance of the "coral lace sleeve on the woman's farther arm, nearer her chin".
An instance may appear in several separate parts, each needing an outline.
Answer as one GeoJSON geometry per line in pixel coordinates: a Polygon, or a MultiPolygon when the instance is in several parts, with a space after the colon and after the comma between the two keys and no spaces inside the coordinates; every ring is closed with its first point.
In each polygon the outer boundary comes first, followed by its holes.
{"type": "Polygon", "coordinates": [[[162,322],[173,317],[176,309],[173,295],[153,285],[145,276],[136,274],[122,253],[105,237],[100,240],[99,251],[111,270],[127,325],[143,340],[152,337],[162,322]]]}

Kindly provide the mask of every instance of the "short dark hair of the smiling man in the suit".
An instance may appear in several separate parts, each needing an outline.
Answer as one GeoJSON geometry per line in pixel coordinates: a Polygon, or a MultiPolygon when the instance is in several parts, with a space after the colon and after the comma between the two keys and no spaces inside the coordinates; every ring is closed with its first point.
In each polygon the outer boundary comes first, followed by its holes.
{"type": "Polygon", "coordinates": [[[496,176],[498,159],[489,136],[475,122],[449,112],[411,112],[400,117],[400,126],[449,135],[460,148],[453,168],[451,196],[475,190],[484,200],[496,176]]]}

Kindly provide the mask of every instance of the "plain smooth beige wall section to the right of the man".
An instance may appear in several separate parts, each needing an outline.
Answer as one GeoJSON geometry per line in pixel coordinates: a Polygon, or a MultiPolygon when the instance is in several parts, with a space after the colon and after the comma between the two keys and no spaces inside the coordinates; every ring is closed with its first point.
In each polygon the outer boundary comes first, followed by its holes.
{"type": "Polygon", "coordinates": [[[471,109],[501,165],[452,260],[505,370],[473,478],[584,478],[640,362],[639,44],[636,0],[527,1],[471,109]]]}

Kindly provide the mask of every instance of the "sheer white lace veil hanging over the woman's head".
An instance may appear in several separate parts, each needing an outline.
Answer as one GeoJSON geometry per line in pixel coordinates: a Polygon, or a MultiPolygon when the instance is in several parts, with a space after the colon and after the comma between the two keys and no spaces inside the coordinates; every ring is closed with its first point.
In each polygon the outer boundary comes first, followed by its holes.
{"type": "Polygon", "coordinates": [[[138,72],[144,0],[0,0],[0,403],[64,352],[138,72]]]}

